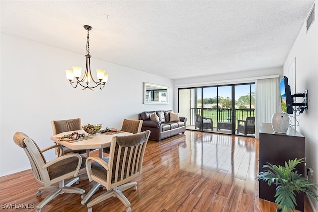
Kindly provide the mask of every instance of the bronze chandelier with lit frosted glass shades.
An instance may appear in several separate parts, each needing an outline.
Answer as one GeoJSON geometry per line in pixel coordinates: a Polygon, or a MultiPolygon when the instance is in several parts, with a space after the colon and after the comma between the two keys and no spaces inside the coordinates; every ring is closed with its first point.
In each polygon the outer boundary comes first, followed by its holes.
{"type": "Polygon", "coordinates": [[[87,43],[86,43],[86,69],[83,77],[81,77],[81,67],[72,66],[72,70],[65,70],[66,78],[69,80],[70,85],[73,88],[84,90],[86,88],[92,91],[102,90],[105,87],[105,84],[108,81],[108,74],[105,74],[105,70],[96,69],[98,80],[94,80],[91,70],[90,70],[90,52],[89,52],[89,31],[93,27],[84,25],[84,28],[87,30],[87,43]],[[73,81],[75,78],[75,81],[73,81]]]}

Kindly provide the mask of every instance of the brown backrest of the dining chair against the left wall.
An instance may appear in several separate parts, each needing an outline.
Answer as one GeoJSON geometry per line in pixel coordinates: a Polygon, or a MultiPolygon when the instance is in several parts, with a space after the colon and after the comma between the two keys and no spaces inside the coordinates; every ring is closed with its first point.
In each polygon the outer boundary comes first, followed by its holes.
{"type": "Polygon", "coordinates": [[[67,120],[56,120],[52,121],[53,135],[61,132],[68,132],[74,130],[81,130],[81,119],[67,119],[67,120]]]}

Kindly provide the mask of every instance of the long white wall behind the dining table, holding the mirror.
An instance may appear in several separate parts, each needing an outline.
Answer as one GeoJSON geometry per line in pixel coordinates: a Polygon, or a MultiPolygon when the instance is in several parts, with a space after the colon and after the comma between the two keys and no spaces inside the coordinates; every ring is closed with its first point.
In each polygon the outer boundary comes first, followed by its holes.
{"type": "MultiPolygon", "coordinates": [[[[138,113],[173,109],[174,81],[91,58],[92,70],[109,74],[102,91],[73,89],[65,69],[85,67],[85,55],[1,33],[0,176],[30,168],[24,151],[13,142],[16,131],[26,133],[40,148],[53,144],[51,120],[78,118],[82,124],[120,128],[138,113]],[[169,104],[143,104],[144,82],[167,85],[169,104]]],[[[53,158],[54,152],[46,155],[53,158]]]]}

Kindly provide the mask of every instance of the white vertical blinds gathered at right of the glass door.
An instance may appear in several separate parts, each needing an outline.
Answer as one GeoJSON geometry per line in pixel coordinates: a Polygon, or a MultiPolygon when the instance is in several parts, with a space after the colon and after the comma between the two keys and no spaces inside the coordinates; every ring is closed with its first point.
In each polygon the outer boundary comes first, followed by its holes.
{"type": "Polygon", "coordinates": [[[274,112],[280,112],[279,78],[259,79],[255,82],[256,117],[255,138],[259,138],[261,123],[271,123],[274,112]]]}

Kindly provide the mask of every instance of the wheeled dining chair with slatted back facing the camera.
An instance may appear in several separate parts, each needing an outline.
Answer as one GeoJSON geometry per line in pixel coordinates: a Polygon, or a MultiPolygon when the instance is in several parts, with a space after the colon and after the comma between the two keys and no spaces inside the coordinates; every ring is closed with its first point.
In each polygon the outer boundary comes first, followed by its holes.
{"type": "Polygon", "coordinates": [[[92,212],[92,206],[116,196],[126,207],[126,212],[131,212],[130,202],[122,193],[134,187],[136,182],[130,182],[142,173],[144,153],[150,131],[144,131],[133,135],[115,136],[112,138],[108,157],[88,157],[86,170],[89,181],[97,184],[87,193],[81,201],[82,205],[98,190],[100,185],[106,187],[107,192],[87,203],[88,212],[92,212]]]}

